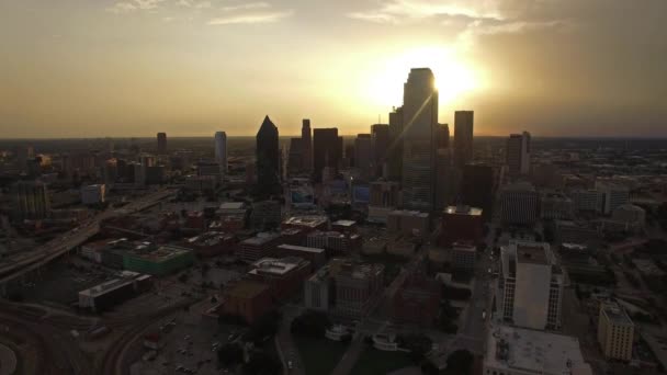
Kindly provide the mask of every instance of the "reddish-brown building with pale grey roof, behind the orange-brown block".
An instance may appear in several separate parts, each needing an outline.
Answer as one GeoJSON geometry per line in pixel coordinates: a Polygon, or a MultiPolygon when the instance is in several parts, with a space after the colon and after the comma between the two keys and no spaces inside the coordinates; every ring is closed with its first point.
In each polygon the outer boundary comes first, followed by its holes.
{"type": "Polygon", "coordinates": [[[296,293],[310,274],[310,262],[298,257],[262,258],[251,264],[247,276],[271,288],[275,300],[284,300],[296,293]]]}

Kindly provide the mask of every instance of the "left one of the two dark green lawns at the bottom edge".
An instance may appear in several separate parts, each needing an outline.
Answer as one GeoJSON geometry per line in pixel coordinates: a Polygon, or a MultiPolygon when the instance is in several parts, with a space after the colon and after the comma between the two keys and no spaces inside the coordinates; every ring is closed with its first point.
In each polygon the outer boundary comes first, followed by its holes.
{"type": "Polygon", "coordinates": [[[294,338],[306,375],[330,374],[346,350],[347,344],[328,339],[294,338]]]}

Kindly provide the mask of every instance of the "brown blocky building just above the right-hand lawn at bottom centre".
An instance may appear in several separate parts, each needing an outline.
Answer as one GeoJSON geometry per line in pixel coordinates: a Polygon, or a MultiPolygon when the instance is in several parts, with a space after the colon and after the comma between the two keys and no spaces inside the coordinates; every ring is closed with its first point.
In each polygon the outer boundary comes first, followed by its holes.
{"type": "Polygon", "coordinates": [[[369,314],[384,284],[384,265],[346,262],[335,276],[336,314],[359,319],[369,314]]]}

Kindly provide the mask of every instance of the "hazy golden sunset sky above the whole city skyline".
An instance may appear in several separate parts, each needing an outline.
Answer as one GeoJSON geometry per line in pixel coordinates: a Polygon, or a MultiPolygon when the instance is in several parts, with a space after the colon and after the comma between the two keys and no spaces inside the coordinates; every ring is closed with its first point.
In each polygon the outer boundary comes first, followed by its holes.
{"type": "Polygon", "coordinates": [[[0,137],[368,133],[433,69],[475,133],[667,136],[667,0],[1,0],[0,137]]]}

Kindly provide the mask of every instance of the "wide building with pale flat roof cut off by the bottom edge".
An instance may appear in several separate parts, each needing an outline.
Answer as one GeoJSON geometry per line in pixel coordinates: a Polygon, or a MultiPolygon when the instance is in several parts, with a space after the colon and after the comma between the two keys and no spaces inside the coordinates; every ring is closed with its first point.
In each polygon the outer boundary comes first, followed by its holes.
{"type": "Polygon", "coordinates": [[[576,338],[516,327],[488,330],[484,375],[592,375],[576,338]]]}

